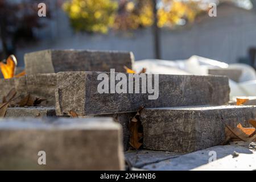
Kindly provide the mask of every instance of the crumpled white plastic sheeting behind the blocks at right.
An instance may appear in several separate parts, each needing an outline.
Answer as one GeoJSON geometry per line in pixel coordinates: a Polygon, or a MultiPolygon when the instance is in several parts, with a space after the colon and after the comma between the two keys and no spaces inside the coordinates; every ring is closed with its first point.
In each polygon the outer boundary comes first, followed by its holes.
{"type": "Polygon", "coordinates": [[[209,68],[241,69],[240,82],[229,80],[230,98],[236,96],[256,96],[256,72],[246,64],[226,64],[200,56],[192,56],[188,60],[141,60],[135,61],[134,70],[139,72],[146,68],[147,73],[170,75],[208,75],[209,68]]]}

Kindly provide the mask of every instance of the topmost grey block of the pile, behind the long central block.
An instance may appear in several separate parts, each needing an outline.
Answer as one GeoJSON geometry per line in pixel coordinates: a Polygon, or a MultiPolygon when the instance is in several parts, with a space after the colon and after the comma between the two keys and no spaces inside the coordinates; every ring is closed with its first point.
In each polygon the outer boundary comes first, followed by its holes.
{"type": "Polygon", "coordinates": [[[44,50],[24,56],[27,75],[69,71],[123,72],[133,67],[132,52],[92,50],[44,50]]]}

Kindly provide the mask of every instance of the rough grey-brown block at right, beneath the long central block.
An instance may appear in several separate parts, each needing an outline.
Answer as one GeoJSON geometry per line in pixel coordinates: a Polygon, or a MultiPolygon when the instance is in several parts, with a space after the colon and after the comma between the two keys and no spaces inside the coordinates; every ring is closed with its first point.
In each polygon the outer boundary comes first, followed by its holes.
{"type": "Polygon", "coordinates": [[[225,125],[249,125],[256,106],[190,106],[144,109],[143,146],[151,150],[193,152],[222,144],[225,125]]]}

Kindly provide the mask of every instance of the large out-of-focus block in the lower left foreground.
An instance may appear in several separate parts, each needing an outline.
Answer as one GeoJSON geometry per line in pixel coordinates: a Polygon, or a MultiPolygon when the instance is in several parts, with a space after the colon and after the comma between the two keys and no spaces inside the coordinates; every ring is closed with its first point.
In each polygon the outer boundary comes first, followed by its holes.
{"type": "Polygon", "coordinates": [[[123,170],[111,118],[0,119],[1,170],[123,170]]]}

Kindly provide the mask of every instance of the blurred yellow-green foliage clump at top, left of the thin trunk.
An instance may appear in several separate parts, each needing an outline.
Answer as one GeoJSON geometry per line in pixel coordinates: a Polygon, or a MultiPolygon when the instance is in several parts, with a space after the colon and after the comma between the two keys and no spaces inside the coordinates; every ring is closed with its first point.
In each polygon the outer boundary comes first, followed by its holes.
{"type": "Polygon", "coordinates": [[[118,3],[112,0],[72,0],[63,5],[77,31],[108,32],[113,26],[118,3]]]}

